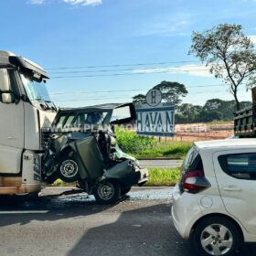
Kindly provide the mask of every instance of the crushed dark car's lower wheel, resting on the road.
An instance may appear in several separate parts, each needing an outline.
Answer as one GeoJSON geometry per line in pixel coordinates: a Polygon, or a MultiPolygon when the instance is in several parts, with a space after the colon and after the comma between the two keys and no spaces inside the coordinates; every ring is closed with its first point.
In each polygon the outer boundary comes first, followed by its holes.
{"type": "Polygon", "coordinates": [[[115,180],[104,180],[94,188],[94,197],[101,203],[115,202],[121,195],[119,182],[115,180]]]}

